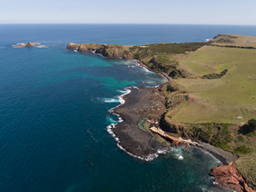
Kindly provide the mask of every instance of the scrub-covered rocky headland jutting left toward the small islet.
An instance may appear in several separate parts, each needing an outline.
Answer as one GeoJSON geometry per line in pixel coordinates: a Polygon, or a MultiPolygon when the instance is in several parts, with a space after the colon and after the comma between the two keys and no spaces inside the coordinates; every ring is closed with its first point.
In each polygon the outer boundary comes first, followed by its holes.
{"type": "Polygon", "coordinates": [[[175,55],[186,56],[189,52],[200,49],[210,44],[205,42],[184,43],[184,44],[146,44],[146,45],[119,45],[119,44],[67,44],[67,49],[79,52],[92,51],[105,57],[119,57],[124,59],[135,59],[145,67],[154,70],[156,73],[164,73],[170,78],[192,78],[195,74],[179,65],[175,55]]]}

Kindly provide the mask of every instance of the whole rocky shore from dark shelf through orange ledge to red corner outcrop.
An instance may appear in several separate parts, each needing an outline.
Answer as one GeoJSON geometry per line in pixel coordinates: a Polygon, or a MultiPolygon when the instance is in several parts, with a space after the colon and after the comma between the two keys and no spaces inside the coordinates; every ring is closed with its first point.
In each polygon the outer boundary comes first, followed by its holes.
{"type": "Polygon", "coordinates": [[[159,149],[192,145],[212,154],[223,164],[212,168],[210,175],[214,177],[215,184],[238,192],[255,192],[237,172],[234,163],[236,155],[208,143],[193,143],[172,138],[158,129],[160,115],[166,110],[165,95],[160,88],[131,88],[131,92],[123,98],[125,103],[112,111],[119,114],[123,121],[112,126],[111,130],[118,138],[119,148],[124,149],[126,153],[139,159],[153,160],[158,156],[159,149]],[[143,127],[144,130],[138,125],[141,119],[148,119],[148,127],[143,127]]]}

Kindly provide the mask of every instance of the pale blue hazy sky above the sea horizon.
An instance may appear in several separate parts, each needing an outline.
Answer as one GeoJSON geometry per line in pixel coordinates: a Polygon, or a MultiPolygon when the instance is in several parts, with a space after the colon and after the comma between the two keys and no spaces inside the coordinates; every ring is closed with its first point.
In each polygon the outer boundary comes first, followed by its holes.
{"type": "Polygon", "coordinates": [[[1,0],[0,23],[256,25],[256,1],[1,0]]]}

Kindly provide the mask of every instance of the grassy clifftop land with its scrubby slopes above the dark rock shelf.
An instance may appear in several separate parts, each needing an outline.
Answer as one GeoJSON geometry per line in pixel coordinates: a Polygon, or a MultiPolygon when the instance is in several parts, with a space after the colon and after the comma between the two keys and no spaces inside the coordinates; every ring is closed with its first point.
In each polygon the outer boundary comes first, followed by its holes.
{"type": "Polygon", "coordinates": [[[252,49],[256,48],[256,38],[218,35],[212,44],[179,62],[196,77],[172,80],[172,86],[178,84],[185,91],[167,91],[171,86],[168,84],[162,87],[167,101],[163,126],[179,137],[235,153],[239,157],[237,170],[256,189],[256,133],[247,125],[248,119],[256,118],[256,49],[252,49]],[[219,74],[224,69],[227,73],[221,78],[202,79],[203,75],[219,74]]]}

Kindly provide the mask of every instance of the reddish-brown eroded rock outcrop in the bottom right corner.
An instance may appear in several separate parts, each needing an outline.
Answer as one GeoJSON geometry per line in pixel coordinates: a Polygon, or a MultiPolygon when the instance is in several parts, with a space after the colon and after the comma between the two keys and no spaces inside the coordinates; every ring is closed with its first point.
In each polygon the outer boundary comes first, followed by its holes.
{"type": "Polygon", "coordinates": [[[241,174],[237,172],[234,162],[230,162],[227,166],[213,167],[210,175],[214,177],[215,182],[218,184],[235,189],[238,192],[256,192],[245,183],[241,174]]]}

